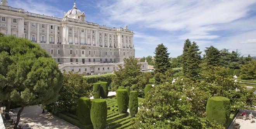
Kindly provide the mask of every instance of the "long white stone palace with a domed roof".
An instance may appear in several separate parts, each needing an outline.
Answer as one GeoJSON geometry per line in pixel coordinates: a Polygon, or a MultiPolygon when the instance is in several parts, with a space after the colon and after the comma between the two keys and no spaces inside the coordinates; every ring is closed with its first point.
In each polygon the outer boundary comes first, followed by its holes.
{"type": "Polygon", "coordinates": [[[10,7],[7,0],[1,0],[0,18],[0,32],[40,44],[59,62],[61,71],[112,72],[124,58],[135,56],[132,30],[87,22],[76,2],[58,18],[10,7]]]}

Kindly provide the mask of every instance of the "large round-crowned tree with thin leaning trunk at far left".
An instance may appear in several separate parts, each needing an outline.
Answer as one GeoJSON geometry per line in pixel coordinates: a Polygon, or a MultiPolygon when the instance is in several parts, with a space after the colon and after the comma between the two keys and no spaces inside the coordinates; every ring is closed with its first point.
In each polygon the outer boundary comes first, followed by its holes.
{"type": "Polygon", "coordinates": [[[6,98],[21,106],[14,126],[17,129],[25,106],[50,104],[57,100],[62,87],[62,74],[57,62],[38,44],[27,39],[0,37],[0,53],[2,52],[7,52],[15,59],[5,69],[6,74],[1,73],[1,82],[5,82],[1,92],[9,94],[6,98]]]}

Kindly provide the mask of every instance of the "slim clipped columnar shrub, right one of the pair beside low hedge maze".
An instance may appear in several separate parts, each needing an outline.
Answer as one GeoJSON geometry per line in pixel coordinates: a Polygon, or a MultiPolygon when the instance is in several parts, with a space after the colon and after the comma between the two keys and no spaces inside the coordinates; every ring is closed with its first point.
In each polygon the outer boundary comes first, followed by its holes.
{"type": "Polygon", "coordinates": [[[130,110],[131,117],[135,117],[135,114],[137,114],[137,112],[138,112],[138,93],[137,93],[137,91],[130,92],[129,110],[130,110]]]}

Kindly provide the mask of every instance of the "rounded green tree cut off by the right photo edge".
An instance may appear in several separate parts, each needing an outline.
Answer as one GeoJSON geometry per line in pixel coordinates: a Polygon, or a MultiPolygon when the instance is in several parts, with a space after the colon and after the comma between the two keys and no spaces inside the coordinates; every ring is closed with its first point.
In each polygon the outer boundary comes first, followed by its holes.
{"type": "Polygon", "coordinates": [[[240,77],[242,79],[256,79],[256,60],[241,66],[240,77]]]}

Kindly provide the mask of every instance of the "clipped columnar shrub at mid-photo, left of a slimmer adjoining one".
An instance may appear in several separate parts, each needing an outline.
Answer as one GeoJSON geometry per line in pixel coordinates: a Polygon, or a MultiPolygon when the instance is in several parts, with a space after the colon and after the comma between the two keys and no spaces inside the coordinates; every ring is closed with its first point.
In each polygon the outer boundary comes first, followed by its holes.
{"type": "Polygon", "coordinates": [[[119,114],[126,113],[129,105],[129,97],[126,89],[116,90],[119,114]]]}

